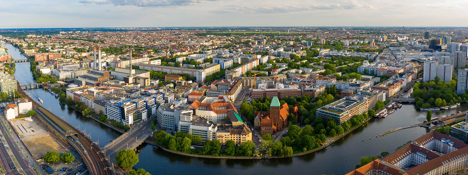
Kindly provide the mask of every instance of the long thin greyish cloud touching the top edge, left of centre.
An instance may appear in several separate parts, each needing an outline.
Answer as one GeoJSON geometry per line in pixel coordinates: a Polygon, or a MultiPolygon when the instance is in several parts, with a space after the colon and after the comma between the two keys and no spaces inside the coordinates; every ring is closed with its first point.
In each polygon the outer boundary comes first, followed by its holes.
{"type": "Polygon", "coordinates": [[[198,5],[206,1],[217,0],[81,0],[80,3],[88,4],[111,4],[115,6],[136,6],[136,7],[169,7],[169,6],[189,6],[198,5]]]}

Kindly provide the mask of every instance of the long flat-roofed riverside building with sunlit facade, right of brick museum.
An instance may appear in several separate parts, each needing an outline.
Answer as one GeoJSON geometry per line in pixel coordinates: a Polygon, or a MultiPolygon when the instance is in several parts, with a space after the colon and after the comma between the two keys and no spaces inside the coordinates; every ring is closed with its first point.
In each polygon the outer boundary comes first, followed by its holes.
{"type": "Polygon", "coordinates": [[[333,118],[338,124],[350,120],[354,115],[366,113],[369,110],[367,99],[358,100],[352,97],[342,98],[329,105],[322,106],[315,112],[316,118],[333,118]]]}

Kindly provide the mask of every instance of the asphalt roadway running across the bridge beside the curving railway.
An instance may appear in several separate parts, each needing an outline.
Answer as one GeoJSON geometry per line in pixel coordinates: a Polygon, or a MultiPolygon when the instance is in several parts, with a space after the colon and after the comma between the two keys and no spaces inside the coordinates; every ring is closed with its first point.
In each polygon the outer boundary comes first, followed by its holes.
{"type": "Polygon", "coordinates": [[[110,149],[106,150],[106,156],[110,157],[110,162],[115,162],[115,156],[118,151],[127,149],[128,146],[135,143],[135,140],[138,140],[138,138],[141,138],[144,135],[151,135],[153,132],[153,129],[151,128],[151,121],[153,121],[153,119],[154,118],[150,118],[147,121],[141,123],[141,127],[139,125],[134,126],[131,130],[127,131],[128,135],[123,138],[123,140],[115,140],[115,143],[110,145],[110,149]]]}

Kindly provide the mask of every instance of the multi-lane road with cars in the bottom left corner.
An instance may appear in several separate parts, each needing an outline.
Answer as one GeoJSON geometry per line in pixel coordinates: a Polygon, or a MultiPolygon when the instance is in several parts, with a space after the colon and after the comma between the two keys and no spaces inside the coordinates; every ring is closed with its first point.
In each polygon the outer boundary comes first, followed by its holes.
{"type": "MultiPolygon", "coordinates": [[[[15,143],[13,136],[18,137],[15,131],[12,129],[12,133],[9,133],[8,129],[10,129],[11,126],[9,126],[8,122],[7,124],[5,124],[6,121],[4,121],[5,119],[3,117],[0,117],[0,118],[1,118],[0,121],[2,123],[0,126],[0,131],[3,134],[2,138],[5,138],[5,140],[2,140],[2,145],[0,146],[1,147],[0,152],[2,156],[1,165],[2,165],[3,170],[5,171],[5,174],[6,175],[21,175],[22,173],[25,173],[26,175],[36,175],[34,170],[30,167],[32,163],[29,164],[27,158],[22,154],[20,147],[18,147],[18,145],[15,143]],[[6,147],[4,146],[5,144],[7,144],[8,147],[10,147],[10,150],[6,149],[6,147]],[[10,153],[13,154],[12,155],[13,157],[10,157],[10,153]],[[16,161],[13,161],[12,158],[15,159],[16,161]],[[10,164],[14,165],[16,169],[9,168],[10,164]]],[[[32,161],[32,162],[33,163],[35,162],[37,164],[36,161],[32,161]]]]}

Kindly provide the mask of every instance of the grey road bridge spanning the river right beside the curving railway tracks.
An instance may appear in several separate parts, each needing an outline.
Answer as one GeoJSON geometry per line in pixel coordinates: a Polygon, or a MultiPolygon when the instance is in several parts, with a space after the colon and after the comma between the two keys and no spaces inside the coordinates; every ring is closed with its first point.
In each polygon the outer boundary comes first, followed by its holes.
{"type": "Polygon", "coordinates": [[[110,141],[102,149],[106,155],[110,157],[110,162],[115,163],[115,155],[122,149],[136,149],[146,139],[151,136],[153,129],[151,129],[152,118],[143,122],[142,126],[134,126],[131,130],[117,137],[115,140],[110,141]]]}

